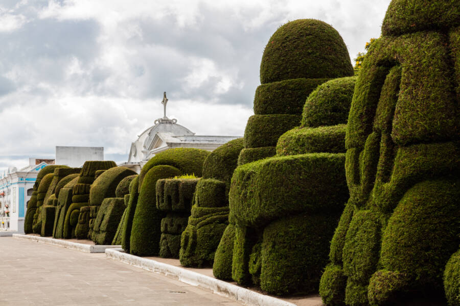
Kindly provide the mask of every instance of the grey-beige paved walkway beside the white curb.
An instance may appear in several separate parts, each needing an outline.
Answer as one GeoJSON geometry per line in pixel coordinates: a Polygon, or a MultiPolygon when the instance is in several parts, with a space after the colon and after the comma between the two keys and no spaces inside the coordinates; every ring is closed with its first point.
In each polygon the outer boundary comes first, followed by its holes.
{"type": "Polygon", "coordinates": [[[167,276],[82,253],[0,238],[0,305],[237,306],[167,276]]]}

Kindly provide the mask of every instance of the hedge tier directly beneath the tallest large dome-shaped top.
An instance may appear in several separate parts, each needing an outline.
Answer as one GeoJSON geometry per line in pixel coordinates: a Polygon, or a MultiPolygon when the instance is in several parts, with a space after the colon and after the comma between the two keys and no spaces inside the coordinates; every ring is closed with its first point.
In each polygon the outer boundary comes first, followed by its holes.
{"type": "Polygon", "coordinates": [[[292,79],[262,84],[254,96],[254,113],[300,114],[308,95],[329,79],[292,79]]]}

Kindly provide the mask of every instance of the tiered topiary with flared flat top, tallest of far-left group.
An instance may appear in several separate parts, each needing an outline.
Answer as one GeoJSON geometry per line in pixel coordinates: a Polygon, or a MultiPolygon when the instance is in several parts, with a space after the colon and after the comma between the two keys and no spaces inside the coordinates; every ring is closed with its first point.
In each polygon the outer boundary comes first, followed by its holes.
{"type": "Polygon", "coordinates": [[[77,184],[72,190],[72,204],[65,215],[63,238],[88,238],[90,209],[84,209],[81,216],[80,209],[88,206],[89,191],[95,180],[96,171],[107,170],[116,166],[113,161],[86,161],[83,164],[77,184]]]}

